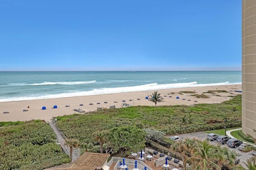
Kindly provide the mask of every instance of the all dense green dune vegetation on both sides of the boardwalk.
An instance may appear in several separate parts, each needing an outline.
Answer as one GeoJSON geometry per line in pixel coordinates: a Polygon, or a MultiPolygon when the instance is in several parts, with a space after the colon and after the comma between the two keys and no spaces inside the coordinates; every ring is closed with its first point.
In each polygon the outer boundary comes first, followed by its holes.
{"type": "MultiPolygon", "coordinates": [[[[92,152],[102,152],[103,149],[104,152],[119,152],[125,156],[126,151],[136,151],[147,143],[152,146],[154,141],[170,150],[173,141],[167,138],[159,140],[157,135],[150,139],[153,137],[149,137],[153,133],[150,129],[172,135],[241,126],[241,109],[241,95],[238,95],[221,104],[157,106],[157,113],[155,107],[134,106],[56,117],[56,123],[69,139],[79,140],[84,145],[96,145],[90,149],[92,152]],[[103,131],[106,135],[101,133],[103,131]],[[135,139],[139,139],[137,145],[129,143],[135,139]]],[[[0,169],[25,166],[22,170],[39,170],[70,162],[60,146],[55,144],[55,134],[47,123],[17,124],[20,125],[9,122],[9,126],[14,126],[0,129],[0,169]]]]}

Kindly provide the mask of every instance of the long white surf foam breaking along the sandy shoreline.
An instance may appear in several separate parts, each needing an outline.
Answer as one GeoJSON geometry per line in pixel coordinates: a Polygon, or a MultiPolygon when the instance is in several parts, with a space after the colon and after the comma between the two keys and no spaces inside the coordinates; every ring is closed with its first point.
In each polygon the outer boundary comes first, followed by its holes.
{"type": "MultiPolygon", "coordinates": [[[[22,101],[22,100],[38,100],[38,99],[49,99],[49,98],[66,98],[66,97],[75,97],[75,96],[91,96],[98,94],[112,94],[112,93],[122,93],[122,92],[137,92],[145,90],[158,90],[158,89],[168,89],[168,88],[185,88],[185,87],[199,87],[199,86],[221,86],[234,84],[229,82],[222,83],[212,83],[212,84],[198,84],[197,82],[189,83],[174,83],[174,84],[144,84],[140,86],[131,86],[131,87],[116,87],[116,88],[100,88],[93,89],[90,91],[70,91],[61,94],[46,94],[38,96],[24,96],[24,97],[14,97],[14,98],[3,98],[0,99],[0,102],[11,102],[11,101],[22,101]]],[[[239,84],[239,83],[235,83],[239,84]]]]}

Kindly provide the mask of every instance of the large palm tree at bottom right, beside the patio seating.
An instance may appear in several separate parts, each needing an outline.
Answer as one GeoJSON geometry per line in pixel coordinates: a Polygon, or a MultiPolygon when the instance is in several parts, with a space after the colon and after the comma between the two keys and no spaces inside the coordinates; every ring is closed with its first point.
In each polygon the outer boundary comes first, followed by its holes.
{"type": "Polygon", "coordinates": [[[206,139],[204,141],[197,141],[197,146],[192,150],[192,157],[185,160],[184,163],[194,162],[193,170],[221,170],[220,166],[214,162],[215,160],[224,160],[225,158],[226,156],[216,152],[216,147],[210,145],[206,139]]]}

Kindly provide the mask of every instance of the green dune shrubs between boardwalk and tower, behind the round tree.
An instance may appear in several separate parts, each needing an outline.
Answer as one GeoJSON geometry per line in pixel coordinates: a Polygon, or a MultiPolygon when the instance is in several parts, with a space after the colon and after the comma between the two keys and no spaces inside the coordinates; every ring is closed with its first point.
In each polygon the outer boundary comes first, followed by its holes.
{"type": "Polygon", "coordinates": [[[94,143],[95,131],[115,127],[154,128],[166,135],[241,126],[241,95],[221,104],[190,106],[134,106],[94,111],[86,115],[56,117],[57,125],[68,138],[94,143]],[[236,107],[234,111],[234,107],[236,107]]]}

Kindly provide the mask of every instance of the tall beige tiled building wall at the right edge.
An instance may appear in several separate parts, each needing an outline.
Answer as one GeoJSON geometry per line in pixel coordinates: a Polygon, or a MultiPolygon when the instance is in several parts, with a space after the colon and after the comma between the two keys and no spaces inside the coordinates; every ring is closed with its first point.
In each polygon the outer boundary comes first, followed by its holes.
{"type": "Polygon", "coordinates": [[[256,0],[242,0],[242,132],[256,137],[256,0]]]}

